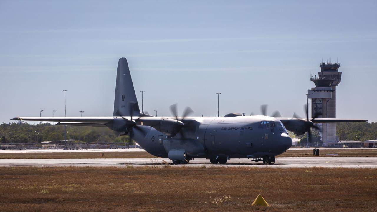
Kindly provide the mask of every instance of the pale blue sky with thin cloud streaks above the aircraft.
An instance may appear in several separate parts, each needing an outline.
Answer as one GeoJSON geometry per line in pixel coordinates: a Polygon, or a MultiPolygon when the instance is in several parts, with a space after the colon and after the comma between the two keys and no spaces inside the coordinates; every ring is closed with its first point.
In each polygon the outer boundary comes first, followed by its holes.
{"type": "Polygon", "coordinates": [[[376,1],[0,1],[0,122],[109,116],[126,57],[144,111],[303,116],[310,75],[339,58],[337,118],[377,121],[376,1]]]}

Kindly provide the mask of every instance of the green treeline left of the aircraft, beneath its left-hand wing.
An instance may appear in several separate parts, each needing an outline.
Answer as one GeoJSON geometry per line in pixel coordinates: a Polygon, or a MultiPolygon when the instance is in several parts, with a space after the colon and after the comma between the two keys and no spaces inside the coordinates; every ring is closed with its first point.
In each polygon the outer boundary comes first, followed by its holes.
{"type": "MultiPolygon", "coordinates": [[[[64,126],[50,123],[29,124],[24,122],[2,123],[0,143],[40,143],[41,141],[64,140],[64,126]]],[[[129,142],[128,136],[118,136],[109,128],[67,126],[67,140],[77,139],[87,143],[129,142]]]]}

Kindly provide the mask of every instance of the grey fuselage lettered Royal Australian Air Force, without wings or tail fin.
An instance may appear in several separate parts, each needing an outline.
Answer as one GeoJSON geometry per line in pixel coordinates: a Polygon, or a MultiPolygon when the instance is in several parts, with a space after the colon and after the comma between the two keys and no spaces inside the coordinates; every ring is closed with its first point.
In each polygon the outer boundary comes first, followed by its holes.
{"type": "Polygon", "coordinates": [[[273,117],[188,118],[195,120],[196,126],[185,132],[185,137],[167,137],[152,127],[140,126],[147,133],[133,131],[133,139],[150,154],[163,158],[172,150],[184,150],[189,158],[261,158],[282,154],[292,146],[284,125],[273,117]]]}

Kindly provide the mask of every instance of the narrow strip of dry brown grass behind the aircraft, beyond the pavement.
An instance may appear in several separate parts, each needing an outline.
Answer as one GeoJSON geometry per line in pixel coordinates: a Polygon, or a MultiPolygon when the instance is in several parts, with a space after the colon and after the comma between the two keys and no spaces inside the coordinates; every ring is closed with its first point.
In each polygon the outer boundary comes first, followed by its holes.
{"type": "MultiPolygon", "coordinates": [[[[105,150],[106,151],[106,150],[105,150]]],[[[319,150],[320,157],[326,154],[339,154],[339,157],[377,157],[374,149],[324,149],[319,150]]],[[[278,157],[313,157],[313,149],[288,150],[278,157]]],[[[63,159],[63,158],[156,158],[148,152],[38,152],[38,153],[0,153],[0,159],[63,159]],[[104,154],[104,156],[102,156],[104,154]]]]}

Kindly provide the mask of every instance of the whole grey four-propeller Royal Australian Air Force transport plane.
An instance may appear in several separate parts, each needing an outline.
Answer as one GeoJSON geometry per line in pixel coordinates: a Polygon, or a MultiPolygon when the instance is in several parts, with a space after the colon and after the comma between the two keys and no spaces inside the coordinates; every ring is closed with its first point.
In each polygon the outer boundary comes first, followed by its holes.
{"type": "Polygon", "coordinates": [[[120,135],[129,135],[147,152],[169,158],[173,164],[187,164],[193,158],[207,158],[212,164],[225,164],[230,158],[251,158],[274,164],[275,156],[292,146],[288,131],[297,135],[317,128],[315,123],[358,122],[367,120],[339,118],[280,118],[277,112],[266,115],[224,117],[189,117],[187,107],[178,116],[176,104],[170,106],[172,117],[153,117],[139,110],[126,58],[120,58],[116,74],[114,113],[112,117],[16,117],[13,120],[61,121],[58,125],[108,127],[120,135]]]}

